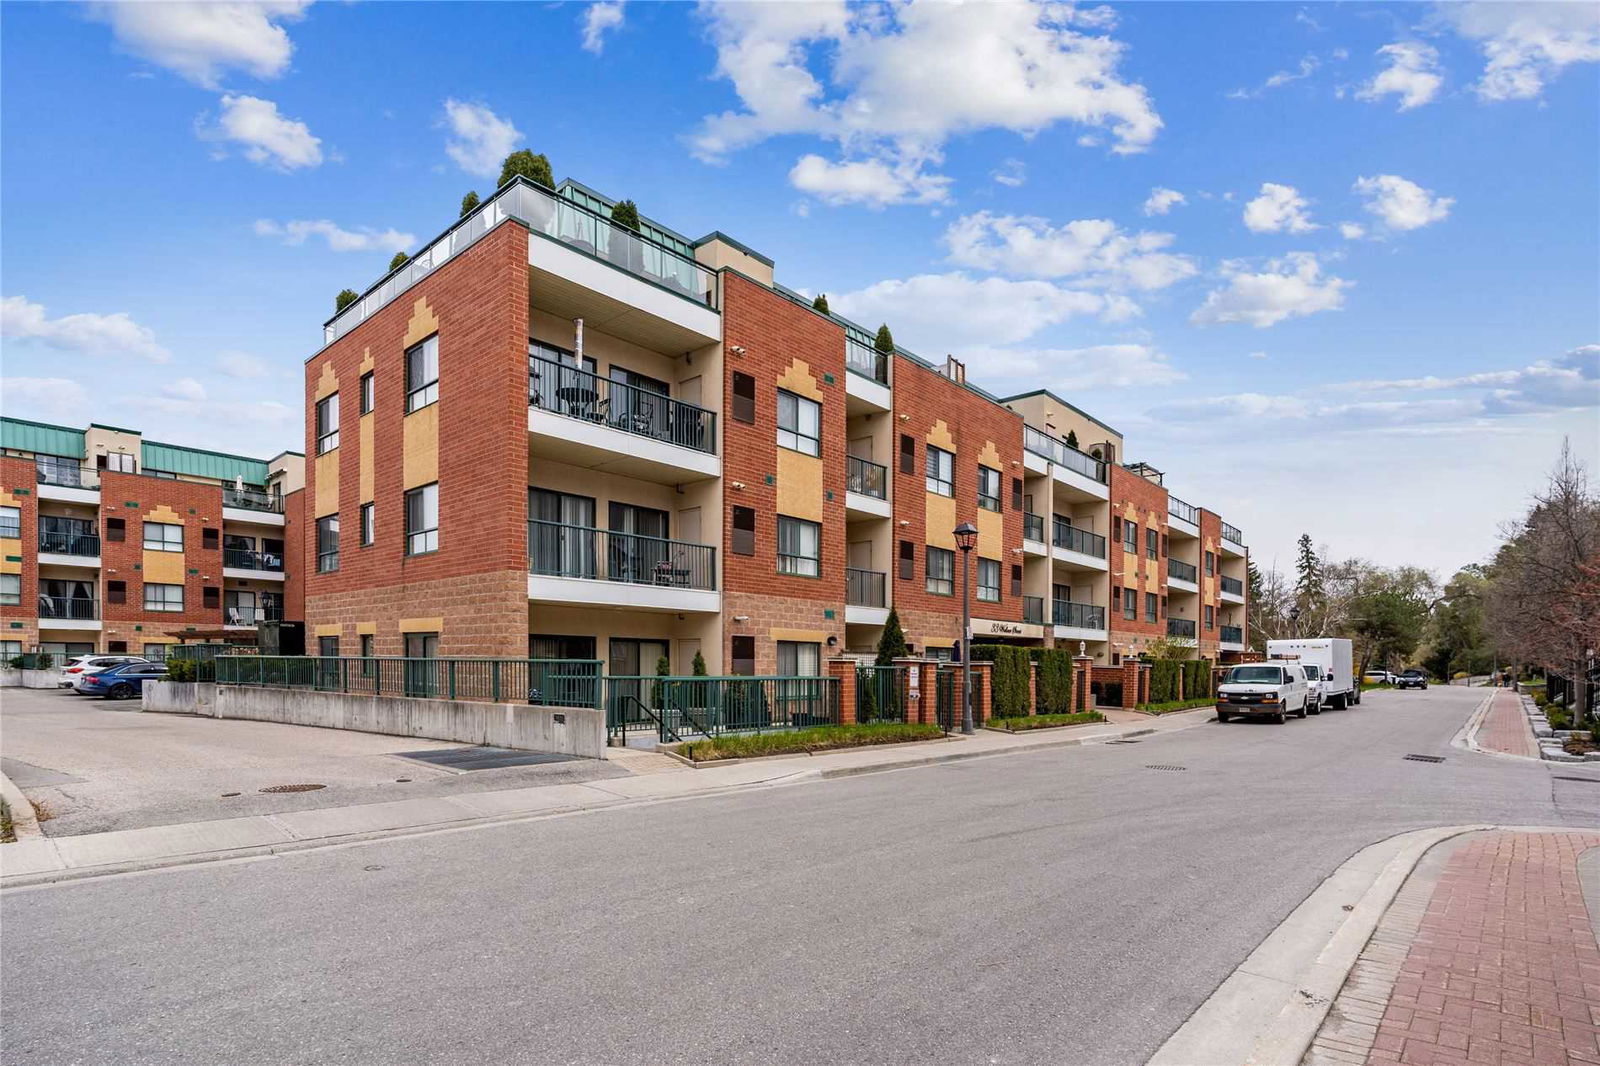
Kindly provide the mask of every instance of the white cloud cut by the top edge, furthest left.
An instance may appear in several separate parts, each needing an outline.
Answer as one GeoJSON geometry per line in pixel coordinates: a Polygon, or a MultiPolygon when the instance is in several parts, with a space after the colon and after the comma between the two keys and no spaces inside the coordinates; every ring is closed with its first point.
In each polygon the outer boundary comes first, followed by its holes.
{"type": "Polygon", "coordinates": [[[205,88],[218,88],[224,70],[275,78],[288,69],[294,45],[280,22],[301,18],[310,0],[218,0],[94,3],[91,18],[109,22],[130,53],[205,88]]]}

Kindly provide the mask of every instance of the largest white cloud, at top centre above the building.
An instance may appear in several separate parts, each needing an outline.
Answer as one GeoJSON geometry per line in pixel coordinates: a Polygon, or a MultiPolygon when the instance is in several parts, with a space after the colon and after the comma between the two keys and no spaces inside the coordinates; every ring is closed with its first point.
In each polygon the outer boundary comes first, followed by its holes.
{"type": "MultiPolygon", "coordinates": [[[[922,174],[952,136],[1059,122],[1107,131],[1115,152],[1149,147],[1162,126],[1142,85],[1117,67],[1125,45],[1101,8],[1032,3],[702,3],[718,77],[741,107],[707,115],[696,157],[722,162],[779,134],[840,149],[840,166],[877,163],[928,202],[922,174]],[[915,176],[915,181],[912,179],[915,176]]],[[[800,176],[822,171],[810,163],[800,176]]],[[[859,173],[859,171],[856,171],[859,173]]],[[[829,186],[832,187],[832,186],[829,186]]]]}

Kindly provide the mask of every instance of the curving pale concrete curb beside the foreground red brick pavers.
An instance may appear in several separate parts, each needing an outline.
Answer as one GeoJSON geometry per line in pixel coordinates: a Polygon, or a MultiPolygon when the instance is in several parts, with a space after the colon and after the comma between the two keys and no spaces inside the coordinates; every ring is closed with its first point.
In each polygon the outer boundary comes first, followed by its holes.
{"type": "Polygon", "coordinates": [[[1352,855],[1250,952],[1147,1066],[1299,1063],[1422,856],[1451,837],[1496,828],[1414,829],[1352,855]]]}

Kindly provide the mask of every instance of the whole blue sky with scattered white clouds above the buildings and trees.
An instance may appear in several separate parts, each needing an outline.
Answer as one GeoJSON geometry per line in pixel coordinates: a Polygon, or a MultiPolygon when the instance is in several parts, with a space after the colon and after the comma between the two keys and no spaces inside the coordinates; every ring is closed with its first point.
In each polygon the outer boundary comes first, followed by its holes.
{"type": "Polygon", "coordinates": [[[1594,5],[6,3],[8,415],[270,455],[509,149],[1048,386],[1288,562],[1600,466],[1594,5]]]}

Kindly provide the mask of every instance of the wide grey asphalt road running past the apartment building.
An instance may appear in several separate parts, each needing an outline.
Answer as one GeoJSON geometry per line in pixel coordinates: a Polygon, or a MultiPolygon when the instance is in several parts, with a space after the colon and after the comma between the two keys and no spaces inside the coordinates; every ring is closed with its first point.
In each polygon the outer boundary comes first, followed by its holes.
{"type": "Polygon", "coordinates": [[[1482,695],[14,890],[5,1060],[1141,1063],[1358,848],[1600,824],[1482,695]]]}

